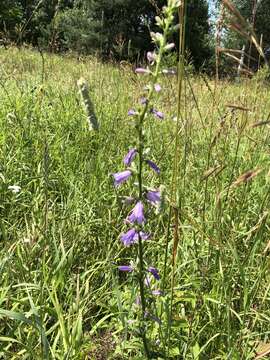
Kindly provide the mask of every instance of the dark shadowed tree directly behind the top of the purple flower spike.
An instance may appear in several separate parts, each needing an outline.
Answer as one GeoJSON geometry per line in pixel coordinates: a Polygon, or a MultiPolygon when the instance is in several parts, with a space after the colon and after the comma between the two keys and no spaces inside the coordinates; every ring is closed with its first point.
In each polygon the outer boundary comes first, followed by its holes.
{"type": "MultiPolygon", "coordinates": [[[[139,57],[153,48],[149,31],[167,1],[91,0],[89,14],[96,24],[103,55],[119,59],[139,57]]],[[[195,67],[211,57],[207,0],[187,2],[186,48],[195,67]]],[[[177,21],[177,19],[176,19],[177,21]]],[[[177,39],[176,42],[178,43],[177,39]]]]}

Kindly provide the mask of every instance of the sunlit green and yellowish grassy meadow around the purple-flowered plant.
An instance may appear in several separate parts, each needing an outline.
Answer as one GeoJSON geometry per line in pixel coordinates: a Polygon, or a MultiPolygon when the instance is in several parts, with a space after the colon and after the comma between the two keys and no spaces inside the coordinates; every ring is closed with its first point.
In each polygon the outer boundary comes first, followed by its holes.
{"type": "MultiPolygon", "coordinates": [[[[117,265],[131,257],[119,241],[121,196],[130,185],[116,191],[111,176],[135,142],[127,113],[146,80],[132,70],[0,49],[1,359],[144,359],[119,320],[129,280],[117,265]],[[81,76],[98,133],[88,131],[81,76]]],[[[153,118],[145,130],[161,174],[147,176],[169,198],[176,78],[164,77],[162,87],[155,102],[165,119],[153,118]]],[[[269,122],[265,84],[221,81],[215,88],[187,75],[168,358],[247,360],[269,352],[269,122]]],[[[168,207],[153,219],[147,247],[160,269],[167,233],[172,253],[168,207]]],[[[170,292],[170,272],[163,281],[170,292]]]]}

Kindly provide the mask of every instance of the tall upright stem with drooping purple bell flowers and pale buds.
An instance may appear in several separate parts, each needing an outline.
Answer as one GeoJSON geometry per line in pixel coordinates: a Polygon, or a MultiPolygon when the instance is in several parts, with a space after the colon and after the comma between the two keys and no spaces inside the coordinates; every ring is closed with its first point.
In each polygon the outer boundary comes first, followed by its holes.
{"type": "MultiPolygon", "coordinates": [[[[137,279],[139,283],[139,292],[140,292],[140,299],[141,299],[141,318],[140,318],[140,336],[143,341],[145,356],[147,359],[151,358],[151,351],[149,349],[149,335],[147,334],[147,329],[149,323],[146,323],[146,314],[149,314],[149,307],[151,305],[151,302],[147,302],[146,297],[146,290],[145,290],[145,279],[146,279],[146,267],[145,267],[145,259],[144,259],[144,243],[143,240],[147,237],[147,234],[143,232],[143,225],[145,222],[144,217],[144,210],[143,210],[143,204],[144,201],[148,200],[148,202],[156,205],[156,203],[161,202],[161,192],[159,190],[150,191],[148,190],[146,194],[144,194],[144,185],[143,185],[143,166],[146,162],[150,168],[152,168],[156,173],[160,173],[159,167],[151,160],[144,158],[144,131],[143,126],[145,119],[147,118],[148,112],[152,112],[157,118],[163,119],[164,115],[161,111],[157,111],[154,108],[150,108],[150,102],[153,98],[154,92],[159,92],[161,90],[161,86],[157,83],[158,77],[160,75],[160,67],[161,67],[161,60],[163,57],[163,54],[166,51],[171,50],[174,48],[174,44],[167,44],[167,37],[168,35],[174,30],[173,20],[173,12],[176,8],[179,7],[180,0],[168,0],[168,6],[163,8],[163,19],[161,19],[159,16],[156,17],[157,25],[163,30],[163,35],[160,33],[152,33],[152,39],[154,43],[158,45],[158,52],[155,53],[147,53],[147,59],[151,65],[155,63],[155,69],[154,71],[151,71],[149,68],[137,68],[135,70],[138,74],[150,74],[151,75],[151,81],[150,84],[147,86],[147,89],[149,90],[147,98],[141,99],[141,104],[143,105],[140,112],[136,112],[134,109],[130,109],[128,112],[128,115],[134,116],[136,115],[136,132],[137,132],[137,147],[132,148],[129,150],[127,155],[124,158],[124,164],[125,166],[130,166],[131,162],[133,161],[134,157],[137,155],[138,159],[138,167],[137,167],[137,177],[138,177],[138,202],[135,205],[132,212],[128,215],[126,221],[130,224],[137,224],[137,226],[133,229],[130,229],[125,234],[121,235],[121,241],[125,246],[129,246],[133,244],[134,242],[138,241],[138,253],[137,253],[137,279]],[[150,108],[150,111],[149,111],[150,108]],[[148,338],[147,338],[148,335],[148,338]]],[[[164,70],[164,74],[169,74],[169,70],[164,70]]],[[[123,182],[125,182],[132,174],[134,173],[133,169],[126,169],[125,171],[121,171],[115,174],[112,174],[114,177],[114,185],[115,187],[121,185],[123,182]]],[[[166,255],[167,257],[167,255],[166,255]]],[[[134,268],[131,265],[122,265],[119,266],[120,271],[133,271],[134,268]]],[[[150,266],[147,268],[147,271],[152,273],[154,278],[156,280],[160,279],[158,270],[154,268],[153,266],[150,266]]],[[[160,291],[158,291],[160,292],[160,291]]],[[[152,291],[152,294],[154,294],[154,291],[152,291]]],[[[151,316],[147,316],[151,319],[151,316]]],[[[159,319],[158,319],[159,320],[159,319]]],[[[160,324],[160,321],[158,321],[160,324]]],[[[161,331],[161,329],[160,329],[161,331]]]]}

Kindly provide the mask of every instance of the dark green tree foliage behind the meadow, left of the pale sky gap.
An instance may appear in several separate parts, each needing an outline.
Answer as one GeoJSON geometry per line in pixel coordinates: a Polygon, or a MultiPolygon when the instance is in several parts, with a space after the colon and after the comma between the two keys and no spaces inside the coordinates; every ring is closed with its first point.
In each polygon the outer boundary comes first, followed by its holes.
{"type": "MultiPolygon", "coordinates": [[[[153,48],[149,31],[166,0],[6,0],[0,31],[50,50],[137,59],[153,48]]],[[[176,20],[177,21],[177,20],[176,20]]],[[[186,44],[195,66],[210,56],[207,0],[187,5],[186,44]]]]}

